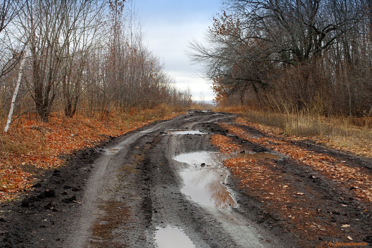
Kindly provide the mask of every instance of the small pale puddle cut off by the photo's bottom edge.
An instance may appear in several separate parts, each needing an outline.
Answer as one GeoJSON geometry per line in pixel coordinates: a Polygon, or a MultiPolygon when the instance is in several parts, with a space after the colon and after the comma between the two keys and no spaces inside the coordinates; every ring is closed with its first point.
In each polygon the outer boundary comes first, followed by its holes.
{"type": "Polygon", "coordinates": [[[155,241],[159,248],[195,248],[182,230],[170,226],[159,228],[155,233],[155,241]]]}

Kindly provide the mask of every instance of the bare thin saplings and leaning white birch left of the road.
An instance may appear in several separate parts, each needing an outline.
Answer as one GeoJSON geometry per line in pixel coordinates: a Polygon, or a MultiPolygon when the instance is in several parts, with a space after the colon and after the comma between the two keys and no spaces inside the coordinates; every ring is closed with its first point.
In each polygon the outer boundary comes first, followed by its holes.
{"type": "Polygon", "coordinates": [[[57,111],[190,105],[190,90],[178,90],[148,48],[130,1],[0,4],[1,117],[11,105],[15,116],[34,112],[45,122],[57,111]]]}

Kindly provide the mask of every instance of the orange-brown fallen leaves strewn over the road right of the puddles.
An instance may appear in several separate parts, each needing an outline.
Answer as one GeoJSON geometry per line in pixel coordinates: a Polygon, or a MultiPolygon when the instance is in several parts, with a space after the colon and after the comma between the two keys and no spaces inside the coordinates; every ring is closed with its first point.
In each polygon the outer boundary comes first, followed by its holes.
{"type": "MultiPolygon", "coordinates": [[[[349,186],[354,186],[355,189],[360,189],[353,191],[359,197],[364,197],[368,202],[371,201],[369,176],[358,168],[347,167],[344,164],[345,161],[337,161],[331,156],[316,154],[298,146],[292,146],[291,142],[286,140],[266,137],[254,138],[234,125],[220,125],[239,138],[260,144],[305,165],[312,166],[333,181],[343,181],[349,186]],[[340,164],[341,167],[339,167],[340,164]]],[[[236,153],[242,149],[242,146],[234,144],[230,137],[224,135],[212,135],[211,143],[217,146],[221,153],[226,154],[236,153]]],[[[327,213],[320,208],[309,207],[310,204],[316,205],[317,199],[321,199],[322,196],[311,189],[307,189],[307,191],[300,189],[302,192],[296,190],[295,184],[284,180],[284,178],[288,178],[288,173],[283,174],[283,172],[276,170],[273,160],[234,158],[224,160],[224,165],[230,169],[232,175],[238,178],[241,189],[244,189],[249,195],[261,199],[260,202],[266,208],[264,213],[269,216],[279,214],[281,218],[286,219],[285,222],[288,223],[286,226],[291,232],[301,233],[308,240],[313,240],[315,243],[320,242],[321,245],[324,242],[319,240],[322,240],[321,238],[324,236],[349,238],[344,233],[340,233],[340,229],[337,229],[335,224],[329,221],[327,213]]],[[[275,217],[273,218],[275,219],[275,217]]],[[[342,227],[346,228],[350,225],[342,227]]]]}

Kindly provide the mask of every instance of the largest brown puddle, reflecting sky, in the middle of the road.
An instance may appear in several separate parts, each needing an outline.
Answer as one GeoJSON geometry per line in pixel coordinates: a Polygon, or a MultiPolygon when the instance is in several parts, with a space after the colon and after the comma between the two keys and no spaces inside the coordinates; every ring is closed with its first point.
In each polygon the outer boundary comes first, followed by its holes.
{"type": "Polygon", "coordinates": [[[280,156],[269,153],[221,154],[219,152],[191,152],[177,155],[174,160],[191,165],[182,170],[180,175],[185,186],[182,193],[191,197],[194,202],[221,209],[237,206],[229,189],[224,185],[228,171],[221,167],[223,160],[230,158],[280,159],[280,156]]]}

